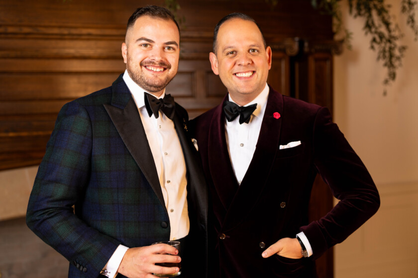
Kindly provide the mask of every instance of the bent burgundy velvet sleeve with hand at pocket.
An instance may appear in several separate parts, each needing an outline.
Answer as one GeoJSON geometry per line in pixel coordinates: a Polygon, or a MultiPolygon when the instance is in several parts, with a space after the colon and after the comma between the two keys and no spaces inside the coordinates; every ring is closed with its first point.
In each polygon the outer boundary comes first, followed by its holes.
{"type": "Polygon", "coordinates": [[[314,121],[314,165],[329,186],[338,204],[325,216],[301,231],[313,249],[313,259],[342,242],[380,206],[376,186],[326,108],[318,110],[314,121]]]}

